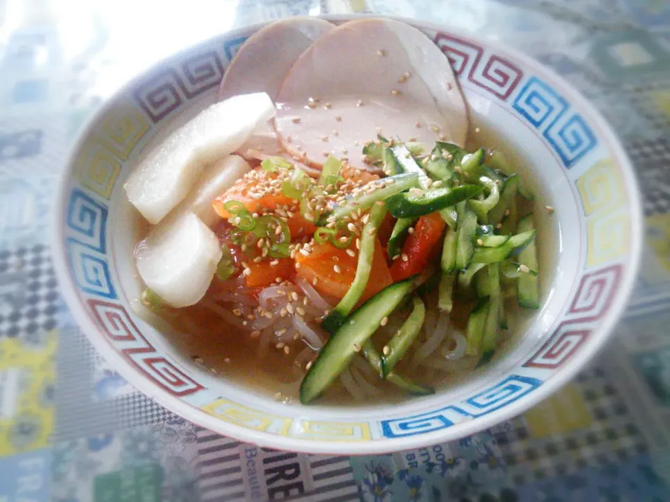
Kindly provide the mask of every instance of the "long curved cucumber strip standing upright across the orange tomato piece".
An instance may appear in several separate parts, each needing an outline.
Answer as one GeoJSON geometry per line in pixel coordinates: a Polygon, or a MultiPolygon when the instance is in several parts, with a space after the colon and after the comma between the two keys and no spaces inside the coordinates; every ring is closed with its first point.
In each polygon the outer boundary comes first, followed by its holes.
{"type": "Polygon", "coordinates": [[[385,204],[375,204],[370,211],[370,219],[363,227],[361,234],[361,249],[358,253],[356,275],[346,294],[340,303],[323,319],[321,326],[328,333],[335,331],[342,325],[352,308],[360,300],[370,278],[372,270],[372,259],[375,254],[375,241],[377,240],[377,229],[386,215],[385,204]]]}

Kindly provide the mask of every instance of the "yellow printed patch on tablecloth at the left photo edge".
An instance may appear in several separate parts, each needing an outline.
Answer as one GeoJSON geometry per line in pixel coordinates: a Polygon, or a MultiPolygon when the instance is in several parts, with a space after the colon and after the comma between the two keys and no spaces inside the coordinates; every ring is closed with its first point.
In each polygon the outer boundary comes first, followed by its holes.
{"type": "Polygon", "coordinates": [[[0,457],[45,448],[54,431],[58,331],[43,347],[0,338],[0,457]]]}

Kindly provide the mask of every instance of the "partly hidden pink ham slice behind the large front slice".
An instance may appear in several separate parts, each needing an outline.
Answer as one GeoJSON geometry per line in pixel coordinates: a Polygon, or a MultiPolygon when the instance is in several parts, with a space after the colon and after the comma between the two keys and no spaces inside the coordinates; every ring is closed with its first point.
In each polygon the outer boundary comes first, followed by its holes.
{"type": "Polygon", "coordinates": [[[225,70],[218,99],[265,92],[274,99],[300,54],[334,25],[314,17],[291,17],[256,31],[237,50],[225,70]]]}

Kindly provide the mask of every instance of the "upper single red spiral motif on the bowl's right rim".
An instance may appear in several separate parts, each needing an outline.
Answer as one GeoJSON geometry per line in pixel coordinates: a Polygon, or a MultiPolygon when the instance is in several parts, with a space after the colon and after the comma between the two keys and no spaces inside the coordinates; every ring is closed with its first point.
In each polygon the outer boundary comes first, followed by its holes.
{"type": "Polygon", "coordinates": [[[622,274],[623,266],[617,264],[583,275],[567,315],[579,315],[580,321],[601,319],[609,310],[622,274]]]}

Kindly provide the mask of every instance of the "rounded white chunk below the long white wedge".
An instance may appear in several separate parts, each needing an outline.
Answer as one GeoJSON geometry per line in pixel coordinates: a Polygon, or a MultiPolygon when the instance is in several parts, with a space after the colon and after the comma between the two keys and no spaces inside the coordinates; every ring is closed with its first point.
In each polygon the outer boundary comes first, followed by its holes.
{"type": "Polygon", "coordinates": [[[161,225],[137,246],[140,277],[172,307],[187,307],[204,296],[222,256],[216,235],[188,213],[161,225]]]}

